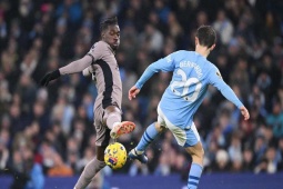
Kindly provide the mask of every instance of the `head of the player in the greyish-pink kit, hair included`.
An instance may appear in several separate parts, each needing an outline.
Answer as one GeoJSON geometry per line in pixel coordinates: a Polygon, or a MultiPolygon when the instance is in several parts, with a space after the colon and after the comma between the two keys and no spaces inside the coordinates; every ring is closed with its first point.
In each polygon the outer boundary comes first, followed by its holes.
{"type": "Polygon", "coordinates": [[[113,50],[120,44],[120,28],[117,17],[110,17],[100,22],[100,33],[103,41],[109,43],[113,50]]]}

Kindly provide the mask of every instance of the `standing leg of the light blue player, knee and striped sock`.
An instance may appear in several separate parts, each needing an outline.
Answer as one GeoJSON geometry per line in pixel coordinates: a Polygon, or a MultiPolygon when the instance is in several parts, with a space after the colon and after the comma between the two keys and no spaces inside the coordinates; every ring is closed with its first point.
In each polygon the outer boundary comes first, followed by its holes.
{"type": "Polygon", "coordinates": [[[198,189],[198,185],[202,175],[204,151],[200,141],[193,147],[188,147],[185,150],[192,156],[193,159],[189,172],[188,188],[198,189]]]}

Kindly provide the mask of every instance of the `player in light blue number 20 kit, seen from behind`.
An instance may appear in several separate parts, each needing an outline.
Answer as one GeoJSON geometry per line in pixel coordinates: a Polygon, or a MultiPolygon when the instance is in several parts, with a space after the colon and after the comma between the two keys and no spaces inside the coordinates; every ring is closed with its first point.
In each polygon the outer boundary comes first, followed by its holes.
{"type": "Polygon", "coordinates": [[[146,163],[145,148],[160,132],[169,129],[178,143],[192,156],[189,189],[198,188],[203,168],[204,150],[193,122],[193,116],[202,103],[209,84],[218,88],[228,100],[233,102],[241,110],[244,120],[250,118],[246,108],[223,81],[219,69],[206,60],[215,48],[215,42],[214,29],[210,26],[200,27],[195,37],[195,51],[180,50],[153,62],[129,90],[129,99],[132,100],[144,82],[155,72],[173,71],[172,80],[158,107],[158,121],[146,128],[138,146],[129,152],[129,158],[146,163]]]}

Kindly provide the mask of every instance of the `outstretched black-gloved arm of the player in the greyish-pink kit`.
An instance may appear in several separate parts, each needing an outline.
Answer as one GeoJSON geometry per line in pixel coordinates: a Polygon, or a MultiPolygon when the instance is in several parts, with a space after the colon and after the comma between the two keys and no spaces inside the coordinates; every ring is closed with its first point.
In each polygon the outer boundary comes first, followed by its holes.
{"type": "MultiPolygon", "coordinates": [[[[93,48],[85,54],[83,58],[72,61],[71,63],[59,68],[58,70],[54,70],[52,72],[47,73],[40,81],[41,86],[48,86],[48,83],[54,79],[58,79],[62,74],[71,74],[81,72],[84,69],[87,69],[91,63],[93,63],[95,60],[101,58],[101,44],[99,43],[98,47],[93,48]]],[[[103,44],[102,44],[103,46],[103,44]]]]}

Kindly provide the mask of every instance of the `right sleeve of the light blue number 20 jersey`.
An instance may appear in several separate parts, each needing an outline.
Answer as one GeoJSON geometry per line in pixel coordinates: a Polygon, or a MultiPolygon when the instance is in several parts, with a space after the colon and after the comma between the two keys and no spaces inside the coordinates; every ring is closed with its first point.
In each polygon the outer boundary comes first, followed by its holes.
{"type": "Polygon", "coordinates": [[[218,90],[237,108],[243,107],[234,91],[224,82],[218,68],[213,67],[209,72],[209,83],[218,88],[218,90]]]}

